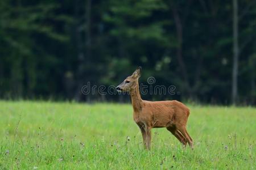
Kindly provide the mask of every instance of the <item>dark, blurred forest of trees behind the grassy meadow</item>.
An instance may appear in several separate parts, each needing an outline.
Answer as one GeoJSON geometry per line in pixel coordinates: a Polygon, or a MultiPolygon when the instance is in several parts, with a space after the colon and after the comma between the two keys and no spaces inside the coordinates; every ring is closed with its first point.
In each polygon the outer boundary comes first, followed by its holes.
{"type": "Polygon", "coordinates": [[[143,99],[256,104],[256,1],[0,1],[1,99],[127,101],[81,87],[137,66],[176,87],[143,99]]]}

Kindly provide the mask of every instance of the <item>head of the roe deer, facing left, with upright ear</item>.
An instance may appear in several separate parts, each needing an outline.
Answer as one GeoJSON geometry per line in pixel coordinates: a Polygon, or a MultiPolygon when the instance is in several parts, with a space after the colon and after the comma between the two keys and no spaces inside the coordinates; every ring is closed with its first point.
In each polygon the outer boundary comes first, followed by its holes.
{"type": "Polygon", "coordinates": [[[117,86],[116,90],[126,91],[126,92],[134,91],[135,87],[138,86],[138,80],[140,76],[141,76],[141,67],[138,67],[132,75],[127,76],[127,78],[117,86]]]}

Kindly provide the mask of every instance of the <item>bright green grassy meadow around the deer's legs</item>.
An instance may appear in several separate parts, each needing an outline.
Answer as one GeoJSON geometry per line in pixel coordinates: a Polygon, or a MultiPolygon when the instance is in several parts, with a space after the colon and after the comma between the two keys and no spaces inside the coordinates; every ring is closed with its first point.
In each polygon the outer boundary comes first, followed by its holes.
{"type": "Polygon", "coordinates": [[[159,128],[146,151],[129,104],[0,106],[0,169],[256,169],[255,108],[189,106],[195,149],[159,128]]]}

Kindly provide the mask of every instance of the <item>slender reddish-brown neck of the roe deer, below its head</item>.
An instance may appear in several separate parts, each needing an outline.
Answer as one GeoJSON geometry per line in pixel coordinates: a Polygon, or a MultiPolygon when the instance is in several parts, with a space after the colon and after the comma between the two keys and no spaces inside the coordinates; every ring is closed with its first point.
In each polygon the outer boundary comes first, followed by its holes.
{"type": "Polygon", "coordinates": [[[133,104],[133,111],[139,112],[142,109],[141,94],[139,94],[139,83],[136,84],[134,90],[130,92],[131,104],[133,104]]]}

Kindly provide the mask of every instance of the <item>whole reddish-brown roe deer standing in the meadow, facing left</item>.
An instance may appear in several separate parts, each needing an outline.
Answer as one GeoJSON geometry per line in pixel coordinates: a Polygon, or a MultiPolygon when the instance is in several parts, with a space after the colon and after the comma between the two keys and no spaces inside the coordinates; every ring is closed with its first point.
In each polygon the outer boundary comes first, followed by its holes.
{"type": "Polygon", "coordinates": [[[141,129],[143,143],[150,150],[151,129],[166,128],[184,146],[189,144],[193,148],[193,140],[186,130],[189,109],[179,101],[146,101],[141,99],[138,79],[141,76],[141,67],[128,76],[117,91],[126,91],[131,95],[133,105],[133,119],[141,129]]]}

